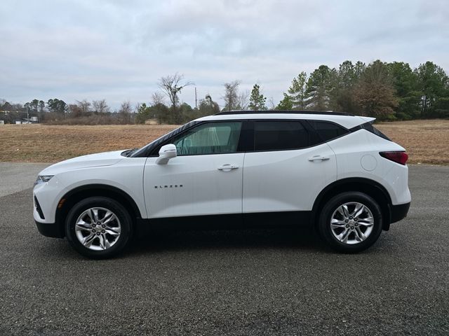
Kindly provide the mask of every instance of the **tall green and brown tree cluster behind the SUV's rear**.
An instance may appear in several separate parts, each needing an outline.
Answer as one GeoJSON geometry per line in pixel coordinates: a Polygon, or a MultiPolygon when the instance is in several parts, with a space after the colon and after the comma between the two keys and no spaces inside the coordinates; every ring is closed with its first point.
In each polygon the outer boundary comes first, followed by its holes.
{"type": "Polygon", "coordinates": [[[380,120],[449,117],[449,78],[433,62],[321,65],[293,78],[276,109],[345,111],[380,120]]]}

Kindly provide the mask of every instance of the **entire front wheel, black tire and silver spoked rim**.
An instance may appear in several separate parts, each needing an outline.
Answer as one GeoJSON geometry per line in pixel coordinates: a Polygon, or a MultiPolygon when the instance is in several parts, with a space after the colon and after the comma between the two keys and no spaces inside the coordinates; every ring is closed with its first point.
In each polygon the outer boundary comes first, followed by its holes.
{"type": "Polygon", "coordinates": [[[128,211],[107,197],[88,197],[67,215],[65,235],[81,255],[92,259],[111,258],[126,247],[132,234],[128,211]]]}

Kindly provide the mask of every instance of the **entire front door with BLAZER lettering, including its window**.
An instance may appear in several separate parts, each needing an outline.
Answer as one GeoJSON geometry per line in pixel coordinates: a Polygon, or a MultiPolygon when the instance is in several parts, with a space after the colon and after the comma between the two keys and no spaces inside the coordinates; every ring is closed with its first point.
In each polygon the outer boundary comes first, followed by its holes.
{"type": "Polygon", "coordinates": [[[149,218],[241,214],[244,153],[241,121],[205,122],[177,134],[177,157],[166,165],[147,158],[145,204],[149,218]]]}

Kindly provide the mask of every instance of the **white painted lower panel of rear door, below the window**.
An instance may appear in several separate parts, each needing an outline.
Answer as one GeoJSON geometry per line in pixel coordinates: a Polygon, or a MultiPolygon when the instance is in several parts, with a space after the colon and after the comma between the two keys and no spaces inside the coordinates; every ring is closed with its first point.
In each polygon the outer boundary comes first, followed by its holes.
{"type": "Polygon", "coordinates": [[[246,153],[243,212],[311,210],[316,196],[337,179],[327,144],[294,151],[246,153]],[[328,160],[309,161],[314,155],[328,160]]]}

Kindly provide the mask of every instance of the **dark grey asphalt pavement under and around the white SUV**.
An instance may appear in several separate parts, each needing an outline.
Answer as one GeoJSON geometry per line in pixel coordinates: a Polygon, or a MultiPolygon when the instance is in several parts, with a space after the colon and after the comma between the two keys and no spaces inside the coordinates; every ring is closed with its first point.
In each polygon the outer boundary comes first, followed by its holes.
{"type": "Polygon", "coordinates": [[[302,227],[159,232],[113,260],[39,235],[31,188],[10,193],[0,335],[449,335],[449,167],[411,166],[410,190],[356,255],[302,227]]]}

